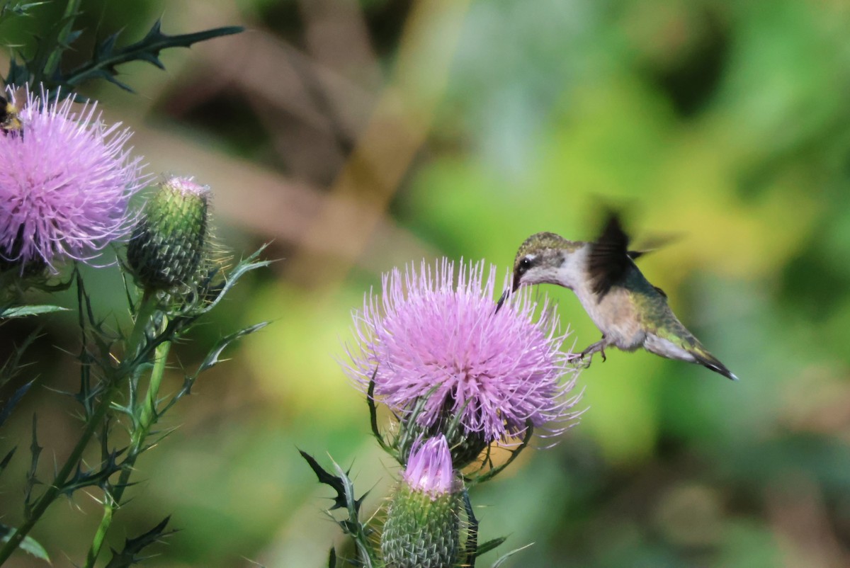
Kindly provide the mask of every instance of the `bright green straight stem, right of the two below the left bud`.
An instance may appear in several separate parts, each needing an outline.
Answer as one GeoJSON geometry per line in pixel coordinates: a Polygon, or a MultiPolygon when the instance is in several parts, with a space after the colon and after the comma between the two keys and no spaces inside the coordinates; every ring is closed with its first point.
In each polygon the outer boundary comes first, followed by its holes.
{"type": "Polygon", "coordinates": [[[130,451],[127,453],[127,459],[122,463],[121,475],[118,477],[118,483],[111,491],[111,495],[107,495],[104,501],[104,516],[100,520],[97,532],[94,533],[92,547],[88,549],[88,557],[86,558],[85,568],[94,568],[94,563],[97,562],[100,554],[100,549],[103,548],[106,542],[106,533],[112,524],[112,515],[116,508],[121,506],[122,497],[124,497],[124,489],[129,486],[130,475],[133,474],[133,467],[136,464],[136,458],[144,452],[144,441],[147,440],[150,434],[150,427],[156,423],[159,414],[156,413],[156,399],[158,397],[160,383],[162,382],[162,374],[165,372],[165,366],[168,359],[168,351],[171,349],[171,342],[166,341],[156,346],[156,358],[154,361],[153,371],[150,372],[150,383],[148,384],[148,394],[144,397],[144,402],[139,403],[138,414],[139,420],[136,423],[133,434],[131,435],[130,451]]]}

